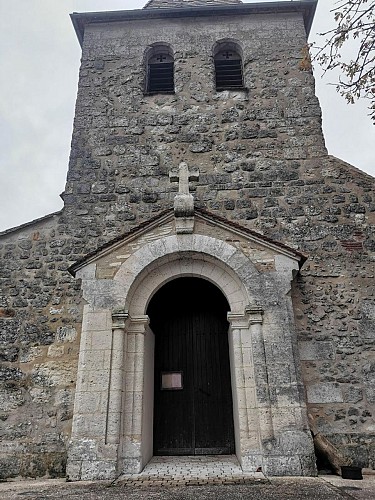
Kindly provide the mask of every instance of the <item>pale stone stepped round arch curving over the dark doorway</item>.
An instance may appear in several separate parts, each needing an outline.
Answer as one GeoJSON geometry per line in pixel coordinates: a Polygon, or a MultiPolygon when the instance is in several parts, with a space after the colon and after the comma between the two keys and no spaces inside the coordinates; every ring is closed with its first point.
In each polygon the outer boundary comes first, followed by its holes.
{"type": "Polygon", "coordinates": [[[228,300],[232,313],[243,313],[248,304],[257,303],[254,293],[262,289],[259,271],[232,245],[203,235],[167,236],[143,246],[123,263],[114,278],[124,300],[118,306],[131,316],[144,315],[154,293],[179,276],[211,281],[228,300]],[[249,281],[251,290],[245,286],[249,281]]]}

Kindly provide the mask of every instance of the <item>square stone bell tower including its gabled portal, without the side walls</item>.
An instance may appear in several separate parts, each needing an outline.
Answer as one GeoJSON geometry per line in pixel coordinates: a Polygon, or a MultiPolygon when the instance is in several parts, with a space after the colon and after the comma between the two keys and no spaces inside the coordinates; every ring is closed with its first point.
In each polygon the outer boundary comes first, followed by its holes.
{"type": "Polygon", "coordinates": [[[104,352],[122,357],[77,384],[70,478],[210,452],[247,473],[315,473],[290,299],[306,257],[277,241],[286,183],[326,155],[299,64],[315,5],[72,15],[82,68],[64,210],[89,252],[70,268],[86,300],[78,381],[104,352]]]}

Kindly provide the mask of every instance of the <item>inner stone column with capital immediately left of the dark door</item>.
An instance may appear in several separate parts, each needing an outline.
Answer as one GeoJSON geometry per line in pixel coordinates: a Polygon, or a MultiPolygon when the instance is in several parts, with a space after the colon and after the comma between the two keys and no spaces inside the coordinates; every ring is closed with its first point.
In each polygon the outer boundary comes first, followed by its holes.
{"type": "Polygon", "coordinates": [[[144,391],[144,336],[148,316],[129,317],[126,322],[125,398],[121,472],[142,470],[142,420],[144,391]]]}

